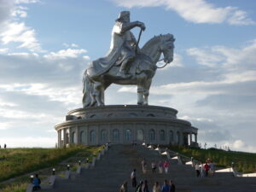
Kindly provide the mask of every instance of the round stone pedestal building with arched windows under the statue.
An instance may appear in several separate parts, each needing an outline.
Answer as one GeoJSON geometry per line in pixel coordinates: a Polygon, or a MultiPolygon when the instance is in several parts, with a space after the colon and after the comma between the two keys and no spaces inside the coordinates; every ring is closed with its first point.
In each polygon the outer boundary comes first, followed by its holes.
{"type": "Polygon", "coordinates": [[[55,125],[55,130],[60,147],[72,143],[189,145],[197,142],[197,128],[189,121],[177,119],[176,109],[160,106],[78,108],[68,112],[66,121],[55,125]]]}

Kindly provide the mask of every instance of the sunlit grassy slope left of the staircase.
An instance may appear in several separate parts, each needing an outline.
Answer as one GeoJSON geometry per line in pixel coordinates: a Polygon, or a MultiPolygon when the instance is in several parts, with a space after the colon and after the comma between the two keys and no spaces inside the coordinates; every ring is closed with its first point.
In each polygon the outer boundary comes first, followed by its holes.
{"type": "Polygon", "coordinates": [[[0,149],[0,182],[28,172],[53,167],[75,154],[92,159],[101,147],[75,146],[70,148],[6,148],[0,149]]]}

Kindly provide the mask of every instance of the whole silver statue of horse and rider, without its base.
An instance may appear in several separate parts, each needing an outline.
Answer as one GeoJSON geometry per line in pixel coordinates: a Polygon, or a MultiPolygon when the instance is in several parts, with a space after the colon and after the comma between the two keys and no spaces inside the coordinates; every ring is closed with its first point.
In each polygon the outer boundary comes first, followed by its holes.
{"type": "Polygon", "coordinates": [[[175,38],[172,34],[155,36],[140,49],[138,43],[145,29],[143,22],[130,22],[129,11],[119,14],[107,55],[92,61],[84,71],[84,108],[104,105],[104,90],[110,84],[137,84],[137,104],[148,105],[149,88],[160,68],[156,64],[161,54],[166,65],[172,62],[175,38]],[[135,27],[141,28],[138,40],[130,31],[135,27]]]}

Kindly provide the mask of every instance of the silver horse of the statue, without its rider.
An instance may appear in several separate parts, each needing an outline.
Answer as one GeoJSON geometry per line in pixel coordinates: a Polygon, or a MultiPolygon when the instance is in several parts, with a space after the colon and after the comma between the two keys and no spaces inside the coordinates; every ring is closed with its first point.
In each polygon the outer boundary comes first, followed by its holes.
{"type": "Polygon", "coordinates": [[[118,75],[118,65],[113,65],[107,72],[95,75],[90,75],[89,68],[86,69],[83,76],[83,107],[103,106],[104,90],[110,84],[137,84],[137,104],[148,105],[149,88],[156,69],[160,68],[156,64],[160,61],[161,54],[164,55],[163,60],[166,64],[172,62],[174,41],[172,34],[155,36],[148,40],[131,62],[131,77],[128,79],[118,75]]]}

